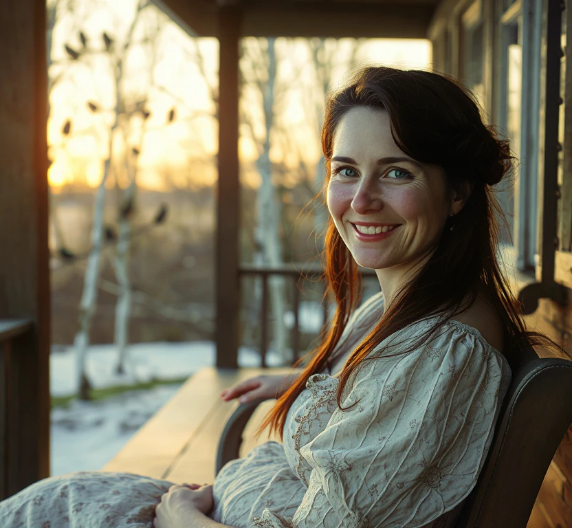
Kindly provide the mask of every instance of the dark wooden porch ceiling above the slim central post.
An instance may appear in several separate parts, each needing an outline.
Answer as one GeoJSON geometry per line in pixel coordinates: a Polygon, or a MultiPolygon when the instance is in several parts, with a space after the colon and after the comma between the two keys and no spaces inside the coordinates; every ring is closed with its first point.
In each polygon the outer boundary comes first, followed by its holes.
{"type": "Polygon", "coordinates": [[[190,34],[219,36],[219,12],[242,36],[425,39],[439,0],[153,0],[190,34]],[[232,6],[232,7],[231,7],[232,6]]]}

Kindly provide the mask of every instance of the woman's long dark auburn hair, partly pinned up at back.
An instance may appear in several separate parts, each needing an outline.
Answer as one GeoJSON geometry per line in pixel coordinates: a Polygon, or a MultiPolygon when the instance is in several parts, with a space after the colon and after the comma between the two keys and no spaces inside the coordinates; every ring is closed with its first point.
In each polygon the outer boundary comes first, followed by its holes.
{"type": "MultiPolygon", "coordinates": [[[[401,151],[423,164],[443,168],[447,185],[472,192],[465,206],[445,223],[437,249],[426,265],[401,287],[369,336],[351,354],[338,386],[338,407],[345,386],[368,355],[393,333],[429,316],[439,323],[419,336],[401,353],[427,342],[443,322],[469,308],[481,288],[493,300],[503,322],[504,352],[527,344],[558,347],[546,336],[525,329],[518,301],[511,294],[498,263],[498,219],[506,219],[491,186],[510,173],[514,157],[509,142],[483,122],[478,104],[452,78],[420,70],[366,67],[353,81],[327,100],[322,129],[322,150],[330,175],[333,137],[340,120],[356,107],[382,109],[389,115],[393,139],[401,151]],[[454,222],[454,230],[450,227],[454,222]]],[[[327,184],[327,181],[326,181],[327,184]]],[[[336,300],[336,312],[318,348],[294,366],[304,366],[298,380],[278,399],[265,417],[259,434],[268,426],[283,436],[287,412],[305,389],[308,378],[320,373],[338,344],[351,313],[358,307],[361,276],[333,221],[325,239],[325,281],[336,300]]],[[[558,347],[560,348],[560,347],[558,347]]]]}

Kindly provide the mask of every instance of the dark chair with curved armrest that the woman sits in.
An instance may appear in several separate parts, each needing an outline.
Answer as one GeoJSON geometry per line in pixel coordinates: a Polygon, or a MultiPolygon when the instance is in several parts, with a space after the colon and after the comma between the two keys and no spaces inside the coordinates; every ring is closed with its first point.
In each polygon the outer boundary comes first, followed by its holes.
{"type": "MultiPolygon", "coordinates": [[[[456,528],[525,528],[551,460],[572,423],[572,362],[531,347],[507,358],[512,380],[491,448],[456,528]]],[[[219,440],[216,472],[239,457],[242,432],[263,400],[236,407],[219,440]]]]}

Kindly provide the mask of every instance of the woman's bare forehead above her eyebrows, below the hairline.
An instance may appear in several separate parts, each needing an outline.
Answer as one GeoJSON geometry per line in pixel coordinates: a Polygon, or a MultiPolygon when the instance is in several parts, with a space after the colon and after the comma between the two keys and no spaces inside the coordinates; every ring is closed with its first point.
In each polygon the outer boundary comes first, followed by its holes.
{"type": "Polygon", "coordinates": [[[368,157],[399,156],[403,151],[391,135],[389,115],[381,109],[353,108],[341,118],[333,135],[333,155],[368,157]]]}

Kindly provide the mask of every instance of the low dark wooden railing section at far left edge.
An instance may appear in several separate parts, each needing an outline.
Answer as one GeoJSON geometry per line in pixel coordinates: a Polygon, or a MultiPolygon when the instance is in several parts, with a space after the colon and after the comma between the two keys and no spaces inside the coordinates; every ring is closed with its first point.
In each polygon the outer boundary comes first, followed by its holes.
{"type": "Polygon", "coordinates": [[[30,320],[0,320],[0,500],[36,478],[37,366],[30,320]]]}

